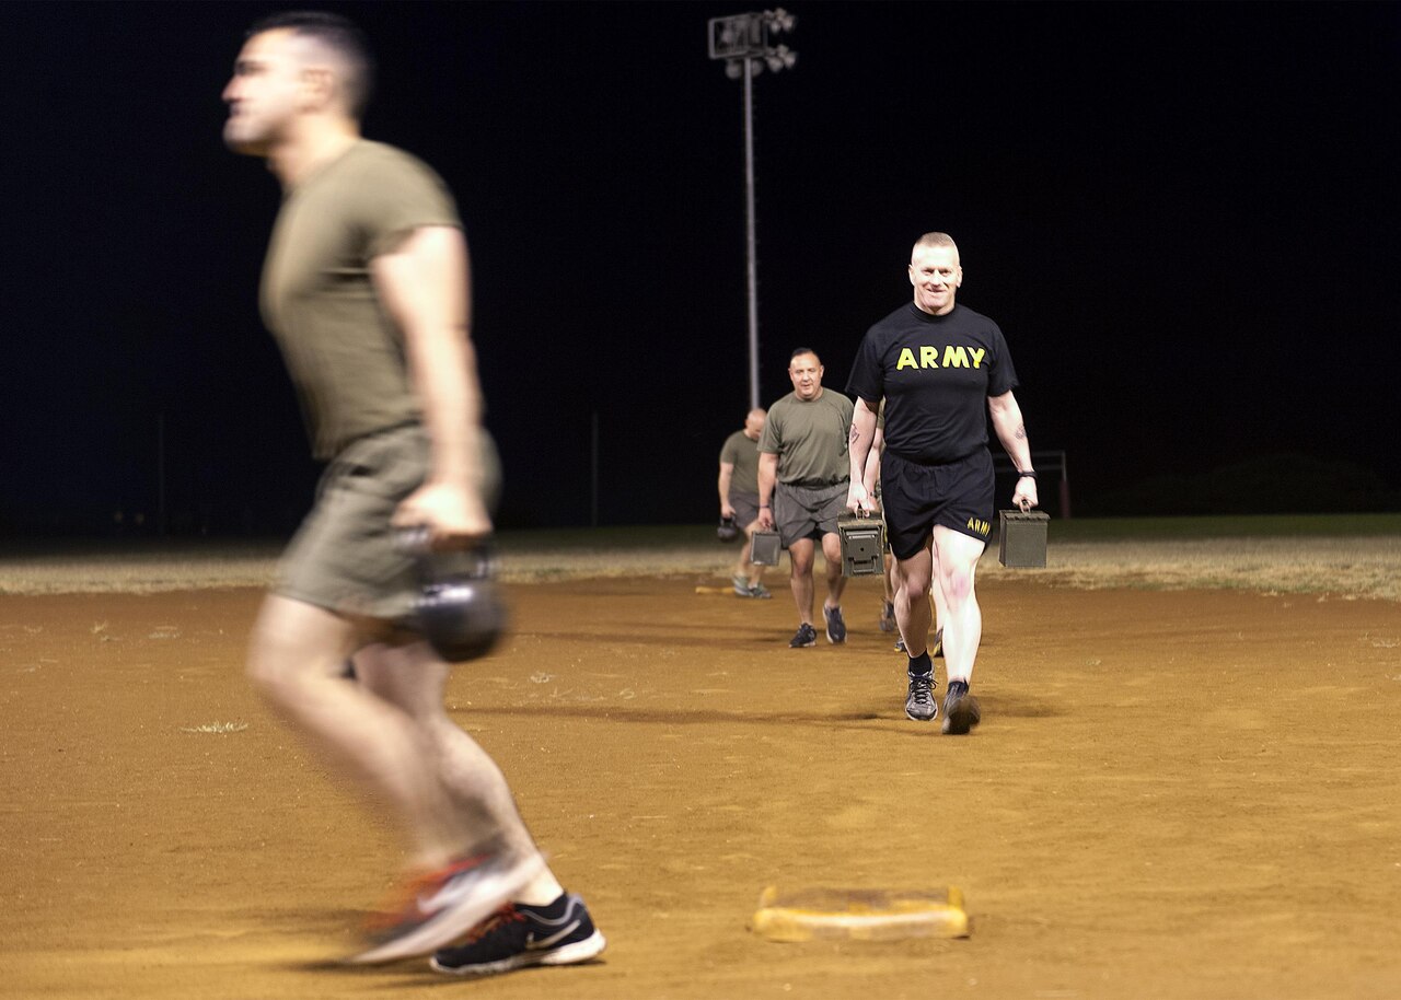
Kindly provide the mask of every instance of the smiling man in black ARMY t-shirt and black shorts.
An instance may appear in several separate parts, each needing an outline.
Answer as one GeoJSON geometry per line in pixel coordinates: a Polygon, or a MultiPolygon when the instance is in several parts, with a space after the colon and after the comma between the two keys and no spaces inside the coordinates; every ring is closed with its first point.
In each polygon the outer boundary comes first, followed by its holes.
{"type": "Polygon", "coordinates": [[[939,714],[925,599],[925,591],[934,585],[948,608],[943,623],[948,669],[943,731],[964,734],[982,717],[968,682],[982,637],[974,571],[988,543],[993,508],[985,399],[998,440],[1021,473],[1013,503],[1023,510],[1037,506],[1037,482],[1021,409],[1012,395],[1017,375],[1002,331],[988,317],[954,303],[962,284],[954,241],[943,232],[920,237],[911,255],[909,283],[913,303],[866,332],[846,384],[856,396],[846,506],[874,508],[860,473],[884,396],[881,499],[897,560],[895,619],[909,655],[905,714],[915,721],[933,721],[939,714]],[[932,578],[934,566],[937,578],[932,578]]]}

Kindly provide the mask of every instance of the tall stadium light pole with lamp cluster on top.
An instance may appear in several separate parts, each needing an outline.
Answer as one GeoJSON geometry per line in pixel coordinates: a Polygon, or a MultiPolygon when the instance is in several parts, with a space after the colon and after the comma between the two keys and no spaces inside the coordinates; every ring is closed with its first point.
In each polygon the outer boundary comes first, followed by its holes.
{"type": "Polygon", "coordinates": [[[744,232],[750,300],[750,408],[759,405],[759,266],[754,238],[754,77],[793,69],[797,53],[775,45],[773,35],[792,32],[797,18],[779,7],[755,14],[713,17],[710,59],[724,60],[724,74],[744,80],[744,232]]]}

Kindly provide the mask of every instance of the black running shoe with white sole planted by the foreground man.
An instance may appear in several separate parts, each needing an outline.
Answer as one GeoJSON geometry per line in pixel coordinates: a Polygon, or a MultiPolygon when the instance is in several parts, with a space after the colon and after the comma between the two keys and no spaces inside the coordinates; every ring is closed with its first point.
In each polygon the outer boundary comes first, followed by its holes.
{"type": "Polygon", "coordinates": [[[507,903],[451,948],[429,962],[453,976],[490,976],[527,965],[573,965],[597,958],[607,941],[574,894],[549,906],[507,903]]]}

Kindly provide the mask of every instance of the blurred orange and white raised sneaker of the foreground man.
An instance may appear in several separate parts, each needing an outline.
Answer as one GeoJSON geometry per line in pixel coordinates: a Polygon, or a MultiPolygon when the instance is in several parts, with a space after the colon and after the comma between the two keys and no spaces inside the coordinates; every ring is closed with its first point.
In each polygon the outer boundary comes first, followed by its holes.
{"type": "Polygon", "coordinates": [[[474,854],[412,878],[396,894],[395,906],[366,923],[370,948],[349,961],[374,965],[436,951],[490,916],[544,868],[539,854],[514,861],[474,854]]]}

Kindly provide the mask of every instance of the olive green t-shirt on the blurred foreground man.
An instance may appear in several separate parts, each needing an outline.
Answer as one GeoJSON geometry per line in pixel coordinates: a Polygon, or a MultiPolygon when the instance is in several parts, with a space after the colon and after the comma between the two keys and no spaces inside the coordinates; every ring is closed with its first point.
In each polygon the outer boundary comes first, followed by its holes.
{"type": "Polygon", "coordinates": [[[360,140],[283,197],[263,263],[263,322],[301,396],[317,458],[422,419],[403,335],[370,262],[422,225],[461,227],[426,164],[360,140]]]}

